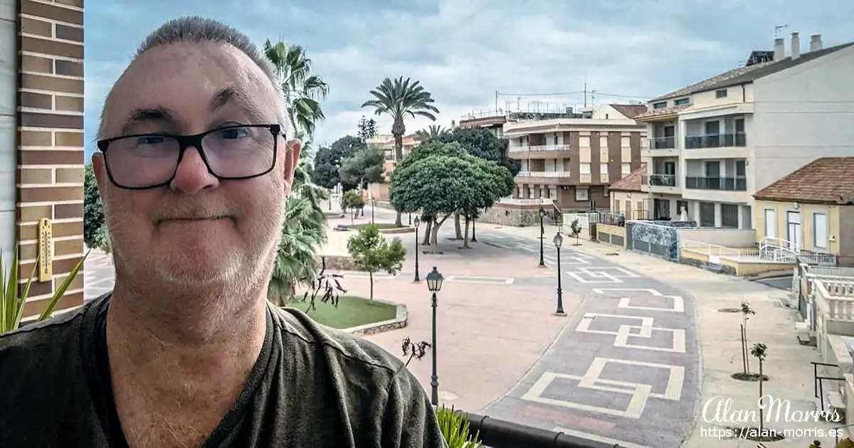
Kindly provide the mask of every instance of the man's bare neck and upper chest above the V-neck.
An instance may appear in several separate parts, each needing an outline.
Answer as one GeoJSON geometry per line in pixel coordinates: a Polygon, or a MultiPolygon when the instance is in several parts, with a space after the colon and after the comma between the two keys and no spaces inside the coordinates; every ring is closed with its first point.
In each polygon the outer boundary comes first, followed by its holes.
{"type": "Polygon", "coordinates": [[[152,291],[143,297],[117,287],[107,313],[107,348],[128,442],[200,444],[231,409],[258,360],[266,288],[241,301],[152,291]],[[166,422],[193,431],[181,440],[147,439],[166,422]]]}

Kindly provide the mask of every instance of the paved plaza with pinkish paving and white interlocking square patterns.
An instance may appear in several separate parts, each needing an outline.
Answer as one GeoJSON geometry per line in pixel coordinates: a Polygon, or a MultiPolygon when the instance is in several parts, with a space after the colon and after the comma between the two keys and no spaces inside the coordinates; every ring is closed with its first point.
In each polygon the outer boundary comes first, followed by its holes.
{"type": "MultiPolygon", "coordinates": [[[[375,217],[389,222],[394,213],[377,209],[375,217]]],[[[718,312],[748,300],[762,316],[751,323],[752,340],[769,344],[766,393],[792,399],[796,409],[812,406],[808,362],[816,357],[797,345],[793,313],[781,306],[785,291],[564,238],[567,316],[556,316],[554,230],[548,227],[543,247],[546,268],[537,266],[538,228],[477,224],[479,241],[464,250],[462,241],[450,240],[449,219],[439,238],[442,254],[419,247],[421,279],[434,265],[446,278],[437,312],[442,403],[625,448],[755,446],[699,435],[710,426],[699,415],[711,397],[734,399],[734,409],[755,408],[757,384],[728,378],[740,370],[740,316],[718,312]]],[[[346,252],[349,235],[330,232],[322,253],[346,252]]],[[[406,304],[408,325],[368,339],[401,355],[404,337],[430,340],[431,309],[426,282],[412,282],[415,235],[397,236],[409,254],[404,268],[374,276],[374,291],[377,299],[406,304]]],[[[111,286],[111,270],[103,256],[87,260],[87,298],[111,286]]],[[[368,293],[364,273],[344,272],[342,283],[350,294],[368,293]]],[[[430,354],[409,364],[428,391],[430,354]]]]}

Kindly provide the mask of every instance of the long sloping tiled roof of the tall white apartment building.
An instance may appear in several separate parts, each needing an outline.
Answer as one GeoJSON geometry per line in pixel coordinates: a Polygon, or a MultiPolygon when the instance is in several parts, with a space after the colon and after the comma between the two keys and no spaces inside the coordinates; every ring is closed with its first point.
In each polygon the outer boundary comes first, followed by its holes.
{"type": "Polygon", "coordinates": [[[651,102],[657,102],[660,100],[666,100],[680,96],[688,96],[693,93],[703,92],[707,90],[722,89],[724,87],[729,87],[732,85],[749,83],[755,81],[756,79],[760,79],[763,76],[768,76],[769,74],[781,72],[783,70],[786,70],[787,68],[795,67],[797,65],[803,64],[804,62],[812,61],[813,59],[822,57],[823,55],[829,55],[831,53],[834,53],[834,51],[839,51],[840,49],[848,48],[851,45],[854,45],[854,42],[835,45],[826,49],[817,49],[816,51],[808,51],[806,53],[801,53],[798,59],[792,59],[792,57],[790,56],[785,59],[781,59],[780,61],[762,62],[752,66],[734,68],[733,70],[730,70],[726,73],[721,73],[709,79],[704,79],[697,84],[691,84],[679,90],[674,90],[668,93],[667,95],[658,96],[658,98],[653,99],[651,102]]]}

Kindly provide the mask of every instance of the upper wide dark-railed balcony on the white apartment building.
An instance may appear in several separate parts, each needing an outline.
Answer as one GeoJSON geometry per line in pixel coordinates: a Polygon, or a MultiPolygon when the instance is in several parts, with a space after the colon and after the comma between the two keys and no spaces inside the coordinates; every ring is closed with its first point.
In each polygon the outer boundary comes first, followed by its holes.
{"type": "Polygon", "coordinates": [[[745,158],[747,150],[746,118],[730,115],[685,120],[682,141],[685,159],[745,158]]]}

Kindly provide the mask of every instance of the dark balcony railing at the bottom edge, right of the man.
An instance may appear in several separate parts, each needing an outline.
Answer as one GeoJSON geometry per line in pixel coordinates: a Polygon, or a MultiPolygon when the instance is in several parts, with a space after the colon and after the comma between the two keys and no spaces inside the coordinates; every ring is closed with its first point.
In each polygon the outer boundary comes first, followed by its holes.
{"type": "Polygon", "coordinates": [[[477,434],[483,445],[491,448],[621,448],[618,444],[582,439],[490,416],[457,412],[469,421],[469,433],[472,436],[477,434]]]}

